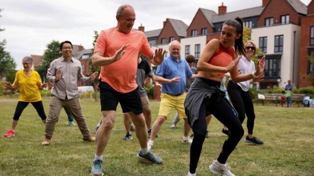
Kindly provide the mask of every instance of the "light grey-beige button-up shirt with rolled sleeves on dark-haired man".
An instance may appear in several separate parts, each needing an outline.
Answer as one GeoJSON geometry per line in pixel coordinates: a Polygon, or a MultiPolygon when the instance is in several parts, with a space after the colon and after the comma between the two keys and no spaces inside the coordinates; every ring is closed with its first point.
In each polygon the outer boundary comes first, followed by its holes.
{"type": "Polygon", "coordinates": [[[47,79],[54,82],[51,94],[59,99],[72,99],[78,95],[78,80],[82,82],[89,81],[89,77],[82,74],[82,65],[78,59],[74,57],[67,61],[61,56],[50,64],[47,71],[47,79]],[[55,81],[57,70],[61,70],[62,78],[55,81]]]}

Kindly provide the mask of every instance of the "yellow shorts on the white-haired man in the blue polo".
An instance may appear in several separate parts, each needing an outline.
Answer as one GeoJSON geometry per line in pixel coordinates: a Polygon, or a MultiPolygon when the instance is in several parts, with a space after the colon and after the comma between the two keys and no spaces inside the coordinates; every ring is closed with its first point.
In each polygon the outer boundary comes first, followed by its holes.
{"type": "Polygon", "coordinates": [[[180,119],[186,119],[185,111],[184,111],[184,100],[186,94],[183,93],[180,96],[172,96],[169,94],[161,93],[160,95],[160,106],[158,116],[167,116],[169,115],[172,108],[176,108],[179,114],[180,119]]]}

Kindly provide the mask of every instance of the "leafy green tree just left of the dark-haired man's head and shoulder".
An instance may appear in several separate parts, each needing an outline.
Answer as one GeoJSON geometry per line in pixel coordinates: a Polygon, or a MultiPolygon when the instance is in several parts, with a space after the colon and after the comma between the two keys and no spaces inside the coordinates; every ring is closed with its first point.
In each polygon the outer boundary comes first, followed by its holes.
{"type": "Polygon", "coordinates": [[[50,63],[60,56],[60,42],[52,40],[52,42],[47,45],[47,49],[45,50],[43,58],[41,59],[40,66],[35,69],[39,73],[43,82],[47,81],[46,74],[50,67],[50,63]]]}

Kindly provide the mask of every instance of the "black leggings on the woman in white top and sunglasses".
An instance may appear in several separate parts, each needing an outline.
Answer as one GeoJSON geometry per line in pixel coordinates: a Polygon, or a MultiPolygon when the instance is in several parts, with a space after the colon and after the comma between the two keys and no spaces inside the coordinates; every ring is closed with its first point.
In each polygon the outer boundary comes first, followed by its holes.
{"type": "Polygon", "coordinates": [[[241,124],[243,123],[246,114],[247,131],[249,134],[253,134],[255,113],[252,97],[249,91],[243,91],[239,85],[233,83],[232,81],[228,82],[227,91],[229,98],[238,113],[241,124]]]}

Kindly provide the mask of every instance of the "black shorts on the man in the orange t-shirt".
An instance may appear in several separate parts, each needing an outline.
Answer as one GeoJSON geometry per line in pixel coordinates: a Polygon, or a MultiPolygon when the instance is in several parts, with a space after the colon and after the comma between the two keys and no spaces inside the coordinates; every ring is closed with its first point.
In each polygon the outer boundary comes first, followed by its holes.
{"type": "Polygon", "coordinates": [[[138,115],[143,112],[141,97],[138,93],[138,87],[128,93],[120,93],[114,90],[108,83],[99,81],[100,101],[102,111],[116,111],[117,105],[120,102],[122,112],[132,111],[138,115]]]}

